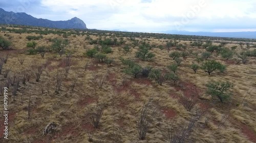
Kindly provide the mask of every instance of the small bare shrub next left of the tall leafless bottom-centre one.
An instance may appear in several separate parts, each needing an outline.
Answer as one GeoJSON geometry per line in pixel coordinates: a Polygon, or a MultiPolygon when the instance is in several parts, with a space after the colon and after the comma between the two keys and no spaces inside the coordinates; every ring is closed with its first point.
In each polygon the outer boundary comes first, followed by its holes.
{"type": "Polygon", "coordinates": [[[99,127],[99,122],[103,115],[103,110],[103,107],[100,105],[90,109],[89,116],[95,128],[99,127]]]}

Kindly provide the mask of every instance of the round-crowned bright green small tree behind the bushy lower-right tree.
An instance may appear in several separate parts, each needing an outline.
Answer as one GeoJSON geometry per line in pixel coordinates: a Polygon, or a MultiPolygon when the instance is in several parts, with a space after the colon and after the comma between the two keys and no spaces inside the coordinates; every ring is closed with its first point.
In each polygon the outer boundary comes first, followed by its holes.
{"type": "Polygon", "coordinates": [[[211,72],[219,69],[220,66],[221,66],[221,63],[216,62],[215,60],[210,60],[210,61],[204,62],[203,65],[201,66],[201,69],[210,75],[211,72]]]}

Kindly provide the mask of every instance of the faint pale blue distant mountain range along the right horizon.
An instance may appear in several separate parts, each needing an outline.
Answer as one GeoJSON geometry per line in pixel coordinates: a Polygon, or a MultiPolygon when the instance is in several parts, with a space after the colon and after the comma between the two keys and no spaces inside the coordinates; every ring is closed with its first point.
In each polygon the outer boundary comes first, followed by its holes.
{"type": "Polygon", "coordinates": [[[229,37],[229,38],[249,38],[256,39],[256,32],[188,32],[188,31],[162,31],[164,34],[229,37]]]}

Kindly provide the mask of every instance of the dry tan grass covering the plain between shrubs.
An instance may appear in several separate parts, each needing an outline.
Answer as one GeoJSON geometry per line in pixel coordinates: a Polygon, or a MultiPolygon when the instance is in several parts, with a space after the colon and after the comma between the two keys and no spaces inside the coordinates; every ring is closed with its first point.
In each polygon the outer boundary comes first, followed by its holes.
{"type": "MultiPolygon", "coordinates": [[[[4,35],[3,32],[0,35],[4,35]]],[[[83,52],[84,45],[88,45],[84,41],[84,37],[70,36],[69,50],[72,50],[72,66],[70,67],[69,76],[63,78],[59,93],[55,93],[54,78],[56,72],[61,65],[62,58],[55,53],[46,53],[42,59],[39,54],[25,55],[25,61],[20,65],[17,57],[23,57],[26,50],[25,37],[28,34],[10,34],[14,36],[13,50],[0,51],[9,54],[7,64],[4,64],[3,71],[10,68],[10,74],[18,73],[23,69],[37,63],[44,64],[50,59],[49,66],[42,71],[39,82],[35,82],[35,78],[31,77],[26,84],[20,83],[19,91],[15,98],[16,101],[9,99],[10,117],[9,117],[9,142],[89,142],[88,132],[94,131],[93,142],[166,142],[164,130],[168,122],[176,120],[176,127],[184,125],[189,119],[195,116],[195,108],[187,111],[179,102],[179,97],[184,96],[186,91],[193,90],[193,86],[200,89],[200,99],[196,105],[199,108],[210,106],[210,120],[205,125],[205,116],[198,121],[191,134],[193,142],[253,142],[253,136],[256,136],[256,89],[252,90],[244,99],[246,92],[255,88],[256,81],[256,59],[249,58],[247,65],[226,64],[221,60],[220,56],[216,58],[219,62],[227,65],[227,71],[224,73],[214,72],[208,76],[202,70],[194,73],[188,65],[195,61],[193,56],[184,59],[181,67],[177,71],[181,80],[174,85],[171,82],[164,82],[162,86],[155,81],[139,77],[134,79],[132,76],[125,75],[122,70],[124,66],[118,60],[120,56],[123,58],[132,58],[140,65],[151,65],[166,69],[167,65],[174,63],[168,54],[170,51],[176,50],[174,47],[167,51],[166,49],[152,49],[156,54],[154,61],[141,61],[134,58],[137,47],[131,48],[131,52],[124,54],[113,47],[113,53],[108,54],[109,58],[114,58],[113,66],[100,63],[97,67],[93,64],[93,59],[85,58],[83,52]],[[22,37],[19,39],[18,37],[22,37]],[[74,46],[76,45],[76,48],[74,46]],[[87,71],[84,66],[88,64],[87,71]],[[74,90],[71,90],[71,84],[74,77],[79,73],[74,90]],[[95,74],[104,75],[108,71],[104,85],[99,89],[95,82],[95,74]],[[126,82],[123,84],[123,79],[126,82]],[[234,83],[232,100],[230,103],[222,104],[213,101],[206,96],[205,84],[210,80],[225,80],[234,83]],[[44,88],[41,84],[44,83],[44,88]],[[191,89],[190,89],[191,88],[191,89]],[[44,90],[42,94],[41,90],[44,90]],[[24,95],[24,96],[22,96],[24,95]],[[31,97],[30,97],[31,95],[31,97]],[[23,102],[22,102],[23,99],[23,102]],[[29,103],[29,99],[31,100],[29,103]],[[152,102],[162,113],[162,117],[152,119],[150,128],[144,140],[138,140],[138,120],[140,109],[143,104],[152,99],[152,102]],[[244,99],[243,104],[239,105],[244,99]],[[30,104],[30,119],[28,119],[27,107],[30,104]],[[99,123],[99,127],[94,129],[90,117],[87,113],[97,104],[103,104],[104,110],[99,123]],[[239,105],[239,106],[238,106],[239,105]],[[222,128],[218,129],[222,115],[229,115],[227,121],[222,128]],[[42,130],[49,123],[56,123],[58,130],[55,135],[42,136],[42,130]]],[[[36,35],[36,34],[29,34],[36,35]]],[[[39,45],[50,45],[47,38],[59,37],[49,34],[44,39],[37,40],[39,45]]],[[[91,36],[96,39],[96,36],[91,36]]],[[[127,39],[126,39],[127,40],[127,39]]],[[[150,38],[151,43],[165,44],[163,40],[150,38]]],[[[181,41],[181,43],[189,43],[189,41],[181,41]]],[[[129,42],[127,42],[129,43],[129,42]]],[[[228,44],[227,47],[231,47],[228,44]]],[[[92,46],[91,46],[92,47],[92,46]]],[[[202,52],[203,49],[194,48],[193,50],[202,52]]],[[[241,49],[238,48],[237,51],[241,49]]],[[[33,71],[33,70],[32,70],[33,71]]],[[[33,73],[32,73],[33,74],[33,73]]],[[[6,79],[0,75],[0,82],[3,84],[6,79]]],[[[1,86],[0,86],[1,87],[1,86]]],[[[13,87],[10,87],[12,89],[13,87]]],[[[11,94],[11,92],[10,92],[11,94]]],[[[1,96],[3,97],[3,96],[1,96]]],[[[1,99],[1,101],[3,98],[1,99]]],[[[3,111],[3,106],[0,107],[3,111]]],[[[1,119],[1,133],[3,129],[1,119]]]]}

